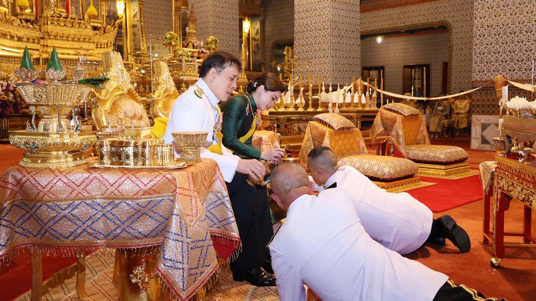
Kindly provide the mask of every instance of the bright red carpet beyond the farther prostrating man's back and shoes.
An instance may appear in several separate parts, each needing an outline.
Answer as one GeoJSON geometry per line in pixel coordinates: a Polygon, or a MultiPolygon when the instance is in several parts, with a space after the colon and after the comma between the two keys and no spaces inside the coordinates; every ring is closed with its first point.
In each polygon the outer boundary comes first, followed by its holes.
{"type": "Polygon", "coordinates": [[[437,184],[407,192],[435,213],[482,199],[482,185],[478,175],[457,180],[421,177],[421,181],[437,184]]]}

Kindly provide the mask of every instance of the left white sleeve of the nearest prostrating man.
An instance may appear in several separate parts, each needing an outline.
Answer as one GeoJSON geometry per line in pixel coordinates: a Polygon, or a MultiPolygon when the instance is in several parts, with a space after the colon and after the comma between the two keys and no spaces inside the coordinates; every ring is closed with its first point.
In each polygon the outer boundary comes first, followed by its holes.
{"type": "Polygon", "coordinates": [[[270,246],[272,267],[276,274],[277,290],[281,301],[306,301],[307,292],[298,273],[282,254],[270,246]]]}

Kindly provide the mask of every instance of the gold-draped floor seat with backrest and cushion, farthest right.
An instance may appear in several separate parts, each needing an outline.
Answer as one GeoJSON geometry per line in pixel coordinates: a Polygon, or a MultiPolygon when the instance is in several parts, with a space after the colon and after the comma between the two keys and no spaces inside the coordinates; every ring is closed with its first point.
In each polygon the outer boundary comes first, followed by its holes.
{"type": "Polygon", "coordinates": [[[431,145],[421,112],[400,103],[383,106],[374,119],[370,136],[388,136],[393,156],[417,163],[421,176],[451,176],[469,171],[467,152],[461,147],[431,145]]]}

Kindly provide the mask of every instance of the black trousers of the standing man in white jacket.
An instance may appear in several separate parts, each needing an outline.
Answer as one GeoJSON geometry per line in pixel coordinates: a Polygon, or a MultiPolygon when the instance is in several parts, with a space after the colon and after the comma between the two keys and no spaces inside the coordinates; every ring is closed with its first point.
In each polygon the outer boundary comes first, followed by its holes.
{"type": "Polygon", "coordinates": [[[258,268],[270,259],[267,244],[273,228],[266,187],[251,187],[247,178],[237,172],[233,181],[226,183],[242,242],[242,252],[230,264],[233,271],[258,268]]]}

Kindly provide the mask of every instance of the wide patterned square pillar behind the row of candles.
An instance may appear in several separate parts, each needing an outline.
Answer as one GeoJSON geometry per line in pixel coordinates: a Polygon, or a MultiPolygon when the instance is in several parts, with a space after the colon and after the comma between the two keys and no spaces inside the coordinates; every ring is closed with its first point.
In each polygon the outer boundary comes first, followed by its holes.
{"type": "Polygon", "coordinates": [[[294,49],[311,61],[304,76],[321,74],[344,84],[360,72],[359,3],[352,0],[294,1],[294,49]]]}

